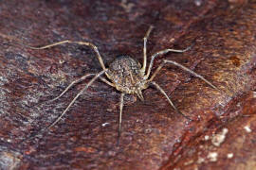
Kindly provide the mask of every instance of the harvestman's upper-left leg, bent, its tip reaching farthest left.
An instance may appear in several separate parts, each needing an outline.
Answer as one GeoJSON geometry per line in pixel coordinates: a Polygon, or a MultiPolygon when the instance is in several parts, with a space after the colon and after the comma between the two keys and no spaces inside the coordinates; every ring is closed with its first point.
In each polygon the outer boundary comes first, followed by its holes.
{"type": "Polygon", "coordinates": [[[31,49],[46,49],[46,48],[50,48],[52,46],[56,46],[56,45],[60,45],[60,44],[64,44],[64,43],[77,43],[77,44],[81,44],[81,45],[86,45],[86,46],[90,46],[93,48],[93,50],[96,52],[97,54],[97,58],[99,59],[100,63],[101,63],[101,67],[103,70],[106,70],[106,67],[104,65],[104,62],[101,58],[101,54],[98,50],[98,47],[96,45],[94,45],[93,43],[91,42],[73,42],[73,41],[69,41],[69,40],[66,40],[66,41],[63,41],[63,42],[55,42],[55,43],[51,43],[51,44],[48,44],[46,46],[42,46],[42,47],[33,47],[33,46],[28,46],[26,45],[28,48],[31,48],[31,49]]]}

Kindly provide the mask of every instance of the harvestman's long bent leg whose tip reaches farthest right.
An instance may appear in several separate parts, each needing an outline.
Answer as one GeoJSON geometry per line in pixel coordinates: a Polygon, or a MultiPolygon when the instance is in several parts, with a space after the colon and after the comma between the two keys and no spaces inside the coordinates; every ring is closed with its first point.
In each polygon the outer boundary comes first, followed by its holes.
{"type": "Polygon", "coordinates": [[[153,76],[150,78],[149,81],[152,81],[152,80],[154,79],[154,77],[156,76],[156,74],[161,70],[161,68],[162,68],[166,63],[172,63],[172,64],[174,64],[175,66],[178,66],[179,68],[181,68],[181,69],[183,69],[183,70],[189,72],[189,73],[192,74],[193,76],[199,77],[200,79],[202,79],[203,81],[205,81],[207,84],[209,84],[210,87],[212,87],[213,89],[216,89],[216,90],[220,91],[216,86],[214,86],[213,84],[211,84],[210,81],[207,80],[206,78],[204,78],[203,76],[198,75],[197,73],[193,72],[191,69],[189,69],[189,68],[187,68],[187,67],[185,67],[185,66],[183,66],[183,65],[181,65],[181,64],[179,64],[179,63],[177,63],[177,62],[175,62],[174,60],[167,60],[167,59],[163,60],[163,62],[158,66],[158,68],[155,70],[155,73],[153,74],[153,76]]]}

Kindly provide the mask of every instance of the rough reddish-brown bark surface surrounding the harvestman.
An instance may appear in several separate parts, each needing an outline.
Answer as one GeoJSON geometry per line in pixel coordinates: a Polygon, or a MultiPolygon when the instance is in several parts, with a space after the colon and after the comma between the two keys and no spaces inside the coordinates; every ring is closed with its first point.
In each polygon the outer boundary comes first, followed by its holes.
{"type": "Polygon", "coordinates": [[[1,169],[251,169],[256,166],[254,1],[28,1],[0,2],[1,169]],[[53,122],[88,80],[64,97],[73,80],[101,71],[87,46],[63,44],[45,50],[24,46],[63,40],[95,43],[106,65],[120,54],[142,63],[165,48],[184,49],[155,60],[175,61],[206,77],[221,91],[167,65],[155,81],[176,114],[153,88],[145,101],[126,95],[117,145],[119,95],[95,82],[56,126],[53,122]]]}

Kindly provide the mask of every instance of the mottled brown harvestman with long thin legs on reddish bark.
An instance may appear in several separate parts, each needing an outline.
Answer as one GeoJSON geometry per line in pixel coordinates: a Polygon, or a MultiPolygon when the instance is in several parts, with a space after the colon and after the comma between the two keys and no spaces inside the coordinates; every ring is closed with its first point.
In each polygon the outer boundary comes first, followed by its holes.
{"type": "Polygon", "coordinates": [[[171,101],[170,97],[164,92],[164,90],[155,81],[153,81],[153,79],[158,74],[158,72],[161,70],[161,68],[167,63],[174,64],[175,66],[180,67],[181,69],[191,73],[193,76],[199,77],[200,79],[202,79],[203,81],[208,83],[210,85],[210,87],[212,87],[213,89],[216,89],[216,90],[218,90],[218,89],[214,85],[212,85],[210,83],[210,81],[205,79],[203,76],[200,76],[200,75],[196,74],[195,72],[193,72],[191,69],[175,62],[174,60],[169,60],[169,59],[164,59],[162,61],[162,63],[158,66],[158,68],[155,70],[155,73],[150,77],[151,70],[152,70],[152,67],[153,67],[153,63],[154,63],[154,60],[155,60],[156,57],[158,57],[160,55],[164,55],[168,52],[183,53],[183,52],[186,52],[187,50],[189,50],[191,48],[191,46],[190,46],[190,47],[188,47],[184,50],[165,49],[165,50],[161,50],[161,51],[156,52],[152,56],[152,59],[150,61],[149,67],[148,67],[148,70],[146,72],[146,65],[147,65],[147,47],[146,47],[146,44],[147,44],[147,40],[148,40],[148,37],[149,37],[152,29],[153,29],[153,26],[150,26],[148,31],[146,32],[145,37],[143,38],[143,40],[144,40],[144,48],[143,48],[144,58],[143,58],[142,67],[141,67],[139,62],[137,62],[135,59],[133,59],[129,56],[119,56],[117,59],[115,59],[109,65],[109,68],[106,68],[105,65],[104,65],[104,62],[101,58],[101,54],[98,50],[98,47],[96,45],[94,45],[93,43],[91,43],[91,42],[73,42],[73,41],[68,41],[67,40],[67,41],[63,41],[63,42],[55,42],[55,43],[48,44],[48,45],[42,46],[42,47],[28,46],[31,49],[46,49],[46,48],[50,48],[52,46],[56,46],[56,45],[64,44],[64,43],[76,43],[76,44],[86,45],[86,46],[90,46],[91,48],[93,48],[93,50],[97,54],[97,58],[99,59],[99,61],[101,63],[101,68],[102,68],[101,72],[99,72],[97,74],[87,74],[85,76],[82,76],[81,78],[71,82],[70,85],[68,85],[67,88],[64,90],[64,92],[61,93],[59,96],[53,98],[52,100],[49,100],[49,102],[51,102],[51,101],[59,99],[74,84],[76,84],[78,82],[81,82],[82,80],[86,79],[89,76],[93,76],[93,78],[86,84],[86,86],[80,91],[80,93],[78,93],[74,97],[74,99],[69,103],[69,105],[63,111],[63,113],[52,124],[50,124],[45,129],[48,129],[48,128],[53,127],[54,125],[56,125],[61,120],[61,118],[64,116],[65,112],[67,110],[69,110],[70,107],[74,104],[74,102],[78,99],[78,97],[84,91],[86,91],[88,89],[88,87],[97,78],[100,78],[103,82],[105,82],[106,84],[108,84],[112,87],[115,87],[119,92],[121,92],[120,102],[119,102],[119,136],[120,136],[120,132],[121,132],[121,115],[122,115],[122,108],[123,108],[123,97],[124,97],[125,93],[137,94],[138,98],[143,101],[144,97],[143,97],[141,91],[144,90],[144,89],[147,89],[150,85],[155,86],[155,88],[160,93],[164,94],[164,96],[166,97],[166,99],[168,100],[168,102],[174,108],[174,110],[176,112],[178,112],[179,114],[183,115],[184,117],[186,117],[187,119],[190,120],[189,117],[187,117],[182,112],[177,110],[177,108],[174,106],[174,103],[171,101]],[[108,79],[102,77],[102,75],[105,75],[108,79]]]}

